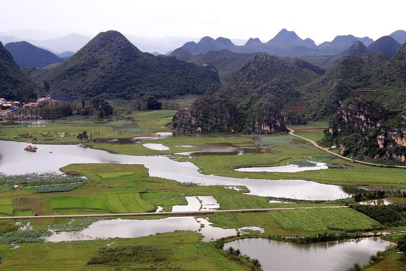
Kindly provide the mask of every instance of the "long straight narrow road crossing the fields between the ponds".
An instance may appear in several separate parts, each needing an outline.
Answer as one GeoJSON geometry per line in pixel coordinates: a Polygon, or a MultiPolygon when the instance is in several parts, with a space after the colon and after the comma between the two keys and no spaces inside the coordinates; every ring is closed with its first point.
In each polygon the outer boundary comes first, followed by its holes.
{"type": "Polygon", "coordinates": [[[76,218],[76,217],[132,217],[132,216],[198,216],[215,213],[254,213],[268,212],[275,210],[294,210],[294,209],[332,209],[347,208],[349,206],[312,206],[312,207],[284,207],[284,208],[261,208],[261,209],[234,209],[234,210],[201,210],[188,212],[154,212],[154,213],[124,213],[124,214],[91,214],[91,215],[49,215],[49,216],[16,216],[0,217],[1,219],[31,219],[31,218],[76,218]]]}

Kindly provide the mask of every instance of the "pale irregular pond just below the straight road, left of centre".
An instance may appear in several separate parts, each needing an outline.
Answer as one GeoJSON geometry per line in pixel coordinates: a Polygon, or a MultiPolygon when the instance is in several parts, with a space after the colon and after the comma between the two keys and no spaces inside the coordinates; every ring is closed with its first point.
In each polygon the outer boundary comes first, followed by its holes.
{"type": "MultiPolygon", "coordinates": [[[[203,241],[219,239],[237,234],[236,229],[223,229],[211,226],[204,218],[168,217],[163,219],[110,219],[92,223],[81,231],[54,232],[46,238],[47,242],[62,242],[76,240],[94,240],[107,238],[136,238],[157,233],[190,230],[203,235],[203,241]]],[[[242,231],[244,229],[242,228],[242,231]]]]}

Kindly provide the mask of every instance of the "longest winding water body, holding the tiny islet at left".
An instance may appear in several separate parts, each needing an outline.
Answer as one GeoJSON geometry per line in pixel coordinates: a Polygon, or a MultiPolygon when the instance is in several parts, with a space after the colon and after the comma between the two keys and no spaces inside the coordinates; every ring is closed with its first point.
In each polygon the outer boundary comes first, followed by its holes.
{"type": "Polygon", "coordinates": [[[39,145],[36,153],[26,152],[25,143],[0,140],[0,172],[25,174],[60,172],[59,168],[77,163],[142,164],[149,175],[200,185],[246,186],[248,194],[306,200],[334,200],[358,192],[350,186],[325,185],[307,180],[267,180],[204,175],[190,162],[178,162],[167,156],[120,155],[84,145],[39,145]]]}

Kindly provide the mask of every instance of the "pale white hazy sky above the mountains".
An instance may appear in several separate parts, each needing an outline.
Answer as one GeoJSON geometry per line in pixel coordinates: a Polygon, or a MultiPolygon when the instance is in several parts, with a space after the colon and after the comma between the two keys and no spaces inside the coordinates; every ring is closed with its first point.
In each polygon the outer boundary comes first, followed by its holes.
{"type": "Polygon", "coordinates": [[[347,34],[375,40],[406,29],[404,0],[0,1],[0,32],[47,29],[93,37],[114,29],[151,38],[222,36],[267,41],[287,28],[303,39],[322,42],[347,34]]]}

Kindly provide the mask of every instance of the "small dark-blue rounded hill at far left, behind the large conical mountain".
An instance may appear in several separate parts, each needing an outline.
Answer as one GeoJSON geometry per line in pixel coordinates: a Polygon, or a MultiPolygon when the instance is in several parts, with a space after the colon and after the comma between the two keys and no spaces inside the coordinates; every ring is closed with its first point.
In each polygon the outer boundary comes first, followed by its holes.
{"type": "Polygon", "coordinates": [[[20,69],[43,68],[54,63],[63,62],[63,58],[56,54],[26,41],[11,42],[6,44],[5,47],[9,50],[20,69]]]}

